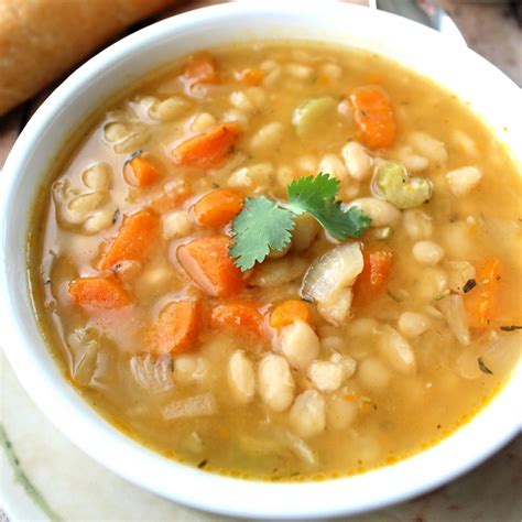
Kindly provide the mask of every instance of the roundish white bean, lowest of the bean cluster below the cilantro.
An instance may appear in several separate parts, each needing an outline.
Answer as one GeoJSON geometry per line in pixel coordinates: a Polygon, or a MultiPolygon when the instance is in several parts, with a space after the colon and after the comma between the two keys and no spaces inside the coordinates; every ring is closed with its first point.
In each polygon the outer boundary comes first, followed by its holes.
{"type": "Polygon", "coordinates": [[[326,426],[325,399],[316,390],[304,391],[295,399],[289,417],[297,435],[304,438],[318,435],[326,426]]]}

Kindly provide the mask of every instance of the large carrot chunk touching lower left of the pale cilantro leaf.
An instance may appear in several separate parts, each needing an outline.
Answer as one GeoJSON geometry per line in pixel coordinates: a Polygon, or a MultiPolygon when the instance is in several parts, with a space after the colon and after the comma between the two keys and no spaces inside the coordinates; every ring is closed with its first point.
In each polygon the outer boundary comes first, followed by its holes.
{"type": "Polygon", "coordinates": [[[208,295],[228,297],[244,286],[241,271],[228,254],[230,244],[227,236],[210,236],[177,249],[180,264],[208,295]]]}

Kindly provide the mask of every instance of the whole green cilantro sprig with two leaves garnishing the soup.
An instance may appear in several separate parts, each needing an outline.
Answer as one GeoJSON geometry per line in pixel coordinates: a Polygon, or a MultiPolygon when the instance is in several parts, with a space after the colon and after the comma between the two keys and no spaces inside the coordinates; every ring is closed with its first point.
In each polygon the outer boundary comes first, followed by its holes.
{"type": "Polygon", "coordinates": [[[246,271],[262,262],[271,250],[283,250],[292,240],[295,218],[308,213],[334,238],[360,237],[370,226],[370,218],[360,208],[344,210],[336,200],[339,181],[328,174],[302,177],[286,187],[289,202],[249,197],[232,221],[233,242],[230,255],[246,271]]]}

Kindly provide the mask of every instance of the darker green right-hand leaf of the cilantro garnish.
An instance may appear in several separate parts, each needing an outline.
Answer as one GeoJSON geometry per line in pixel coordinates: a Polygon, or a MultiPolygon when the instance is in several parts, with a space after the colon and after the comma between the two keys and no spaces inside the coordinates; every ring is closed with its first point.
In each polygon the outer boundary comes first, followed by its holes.
{"type": "Polygon", "coordinates": [[[342,210],[335,200],[338,189],[339,181],[328,174],[302,177],[287,187],[287,208],[297,216],[311,214],[336,239],[358,238],[370,226],[370,218],[357,207],[342,210]]]}

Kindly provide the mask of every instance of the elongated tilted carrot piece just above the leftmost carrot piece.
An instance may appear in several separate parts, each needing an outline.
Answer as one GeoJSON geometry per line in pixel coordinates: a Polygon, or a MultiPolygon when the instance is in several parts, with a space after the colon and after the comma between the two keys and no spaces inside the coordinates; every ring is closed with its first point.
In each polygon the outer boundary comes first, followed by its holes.
{"type": "Polygon", "coordinates": [[[157,216],[148,210],[129,216],[120,227],[118,236],[110,243],[101,261],[101,270],[111,270],[121,261],[143,261],[159,235],[157,216]]]}

